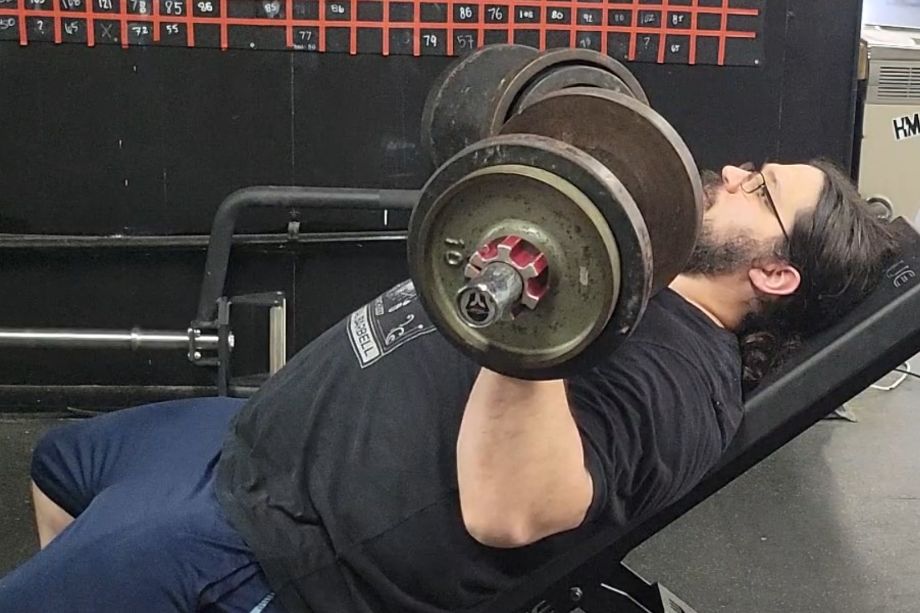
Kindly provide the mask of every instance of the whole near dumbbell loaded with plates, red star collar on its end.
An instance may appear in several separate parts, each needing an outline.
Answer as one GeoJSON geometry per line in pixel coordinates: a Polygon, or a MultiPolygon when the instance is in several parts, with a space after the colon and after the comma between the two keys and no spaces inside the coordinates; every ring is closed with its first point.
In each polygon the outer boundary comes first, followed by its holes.
{"type": "Polygon", "coordinates": [[[571,376],[611,355],[681,271],[702,203],[689,150],[643,101],[554,89],[431,176],[410,273],[435,325],[478,363],[571,376]]]}

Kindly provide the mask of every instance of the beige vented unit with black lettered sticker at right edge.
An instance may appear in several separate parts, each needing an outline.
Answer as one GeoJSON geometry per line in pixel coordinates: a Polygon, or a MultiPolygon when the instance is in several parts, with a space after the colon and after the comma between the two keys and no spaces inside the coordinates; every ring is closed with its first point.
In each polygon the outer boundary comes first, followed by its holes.
{"type": "Polygon", "coordinates": [[[864,26],[859,191],[920,228],[920,30],[864,26]]]}

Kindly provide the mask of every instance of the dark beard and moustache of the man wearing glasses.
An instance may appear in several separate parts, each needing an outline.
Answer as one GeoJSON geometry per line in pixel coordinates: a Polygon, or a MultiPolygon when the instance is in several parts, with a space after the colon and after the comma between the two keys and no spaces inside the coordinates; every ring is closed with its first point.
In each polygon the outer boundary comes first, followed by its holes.
{"type": "MultiPolygon", "coordinates": [[[[703,193],[708,211],[719,189],[722,178],[706,170],[701,174],[703,193]]],[[[737,232],[731,236],[717,236],[712,221],[704,219],[703,229],[687,264],[684,274],[688,275],[724,275],[749,267],[752,263],[770,257],[773,253],[772,241],[759,241],[751,236],[737,232]]]]}

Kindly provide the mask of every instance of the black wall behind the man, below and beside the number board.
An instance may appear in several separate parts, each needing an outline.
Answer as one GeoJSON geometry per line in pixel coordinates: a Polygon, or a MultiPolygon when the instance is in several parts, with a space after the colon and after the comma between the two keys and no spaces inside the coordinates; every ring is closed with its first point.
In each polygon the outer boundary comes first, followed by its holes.
{"type": "MultiPolygon", "coordinates": [[[[701,167],[819,155],[848,166],[859,11],[858,0],[771,1],[755,68],[630,66],[701,167]]],[[[419,187],[431,168],[418,118],[450,61],[0,43],[0,233],[201,235],[246,185],[419,187]]],[[[249,216],[244,228],[285,221],[249,216]]],[[[406,216],[386,228],[379,213],[304,222],[399,229],[406,216]]],[[[194,315],[203,248],[16,245],[0,240],[0,327],[178,330],[194,315]]],[[[296,347],[405,276],[403,260],[401,243],[245,247],[229,291],[286,291],[296,347]]],[[[10,385],[210,382],[181,352],[0,352],[0,404],[66,400],[10,385]]]]}

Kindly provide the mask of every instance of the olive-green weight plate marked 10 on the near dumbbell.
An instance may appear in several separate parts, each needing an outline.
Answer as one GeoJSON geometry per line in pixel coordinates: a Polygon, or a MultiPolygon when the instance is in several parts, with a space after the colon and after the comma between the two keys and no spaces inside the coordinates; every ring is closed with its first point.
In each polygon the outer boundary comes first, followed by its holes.
{"type": "MultiPolygon", "coordinates": [[[[501,356],[502,368],[558,364],[607,324],[619,293],[616,243],[591,201],[557,175],[520,164],[480,169],[440,195],[426,225],[425,233],[443,239],[445,247],[518,236],[546,256],[550,289],[534,311],[488,328],[448,323],[465,347],[501,356]]],[[[463,286],[457,284],[463,269],[454,262],[447,253],[437,258],[430,278],[434,310],[448,318],[463,286]]]]}

